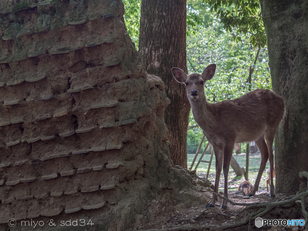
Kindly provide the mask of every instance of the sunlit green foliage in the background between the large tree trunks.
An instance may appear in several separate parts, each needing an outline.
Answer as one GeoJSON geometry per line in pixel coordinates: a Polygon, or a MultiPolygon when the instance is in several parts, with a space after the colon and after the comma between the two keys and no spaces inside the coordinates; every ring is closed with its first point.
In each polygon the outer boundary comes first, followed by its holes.
{"type": "MultiPolygon", "coordinates": [[[[138,47],[141,0],[124,1],[124,6],[128,33],[138,47]]],[[[209,102],[235,99],[248,93],[249,89],[272,88],[258,1],[187,0],[186,19],[188,73],[202,73],[209,64],[217,65],[214,78],[205,83],[209,102]],[[254,69],[250,85],[249,67],[254,69]]],[[[201,128],[190,113],[188,153],[196,152],[202,136],[201,128]]],[[[205,144],[201,151],[204,147],[205,144]]]]}

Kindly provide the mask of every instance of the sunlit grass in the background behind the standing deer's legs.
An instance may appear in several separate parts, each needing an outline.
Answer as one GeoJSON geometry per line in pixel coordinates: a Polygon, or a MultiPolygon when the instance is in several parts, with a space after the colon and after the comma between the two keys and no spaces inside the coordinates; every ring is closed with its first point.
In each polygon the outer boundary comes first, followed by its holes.
{"type": "MultiPolygon", "coordinates": [[[[193,162],[195,154],[187,154],[187,165],[188,168],[191,166],[193,162]]],[[[195,164],[193,166],[193,169],[195,169],[199,158],[201,157],[201,153],[199,153],[195,164]]],[[[237,162],[240,164],[241,167],[244,167],[246,169],[246,153],[241,153],[241,154],[235,154],[234,155],[235,159],[237,162]]],[[[210,155],[205,154],[203,157],[203,160],[210,160],[210,155]]],[[[213,156],[210,172],[209,172],[209,180],[214,184],[215,183],[215,177],[216,177],[216,169],[215,169],[215,154],[213,156]]],[[[259,171],[261,163],[261,154],[250,154],[249,155],[249,175],[248,179],[251,184],[254,184],[257,174],[259,171]]],[[[202,163],[200,162],[198,168],[197,168],[197,175],[199,177],[206,177],[206,173],[208,171],[208,166],[209,164],[207,163],[202,163]]],[[[260,185],[259,185],[259,190],[258,193],[266,193],[266,179],[268,178],[266,174],[266,169],[270,167],[270,162],[267,161],[265,171],[262,174],[260,185]]],[[[236,176],[233,169],[229,168],[229,175],[228,175],[228,189],[229,190],[237,190],[238,185],[245,180],[244,176],[236,176]]],[[[275,185],[275,178],[274,178],[274,185],[275,185]]],[[[220,176],[220,183],[219,183],[219,191],[224,191],[224,175],[223,172],[221,171],[221,176],[220,176]]]]}

